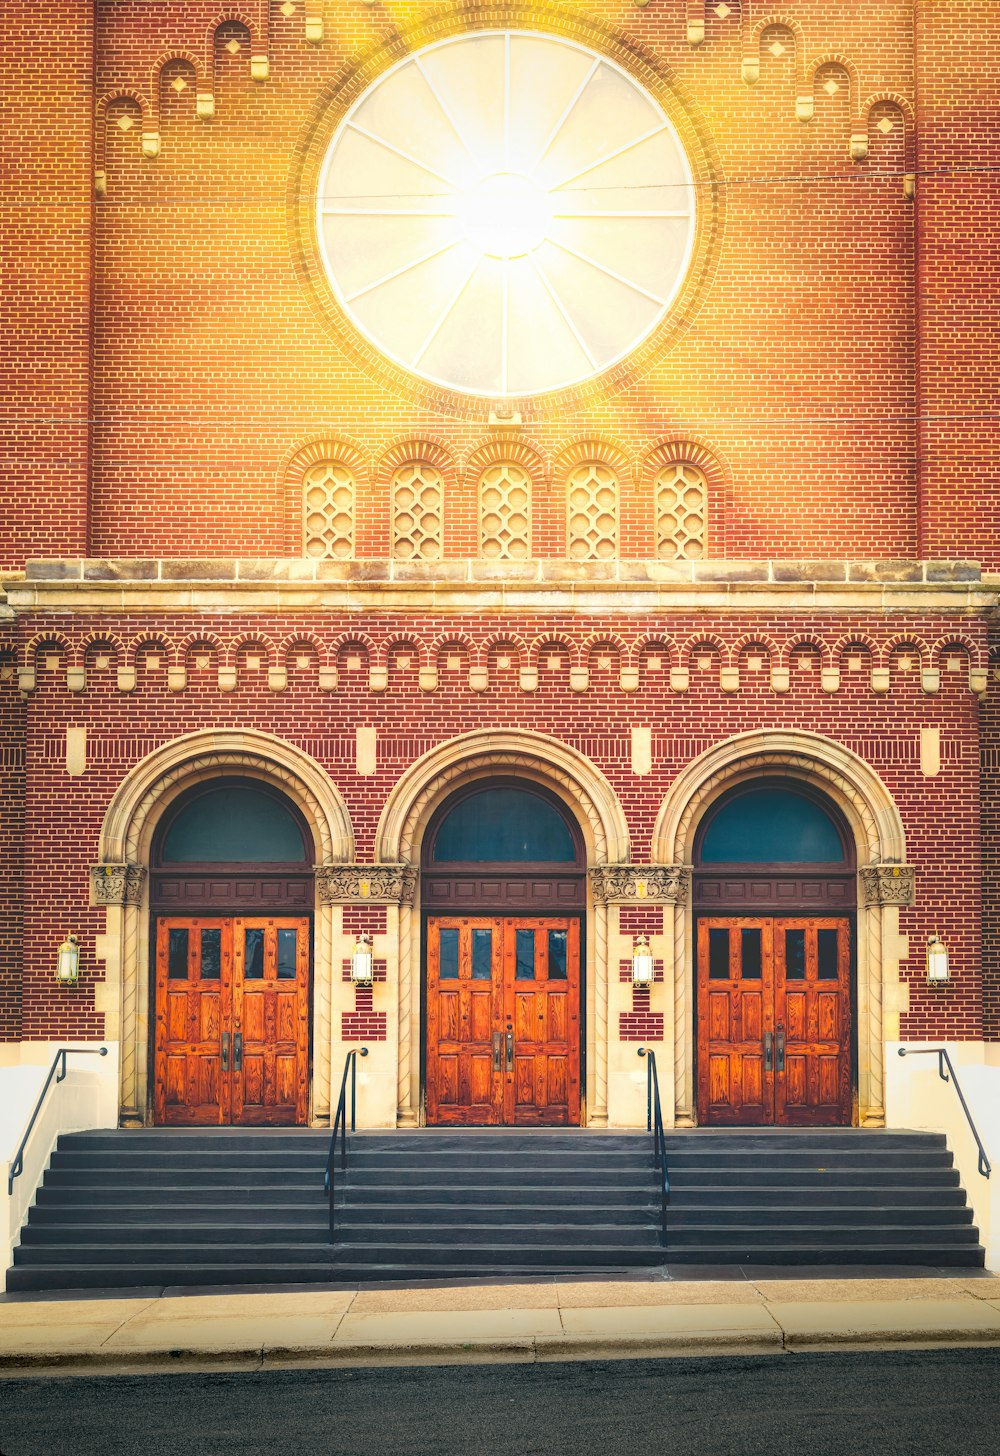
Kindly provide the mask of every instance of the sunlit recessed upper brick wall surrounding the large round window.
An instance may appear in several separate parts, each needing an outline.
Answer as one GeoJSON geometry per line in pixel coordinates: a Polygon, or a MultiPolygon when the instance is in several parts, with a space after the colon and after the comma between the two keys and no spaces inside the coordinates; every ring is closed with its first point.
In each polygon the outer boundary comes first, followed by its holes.
{"type": "MultiPolygon", "coordinates": [[[[590,16],[624,32],[675,77],[715,153],[725,223],[712,277],[662,358],[614,393],[525,405],[524,435],[549,466],[566,443],[594,435],[629,462],[662,437],[706,441],[726,464],[710,505],[718,556],[916,555],[914,211],[900,181],[901,114],[888,135],[875,125],[885,106],[872,114],[863,163],[847,153],[857,105],[847,84],[831,98],[818,79],[815,119],[795,118],[806,55],[844,54],[859,68],[862,102],[911,96],[911,6],[796,0],[793,9],[802,33],[782,32],[786,54],[764,50],[760,83],[747,86],[738,4],[726,20],[707,9],[699,48],[686,41],[680,0],[575,7],[581,25],[590,16]]],[[[100,0],[98,13],[99,95],[151,96],[154,66],[175,48],[201,64],[220,6],[100,0]]],[[[256,45],[243,36],[230,55],[221,44],[242,32],[218,38],[214,121],[195,118],[198,87],[178,95],[167,66],[157,160],[141,157],[140,127],[116,124],[132,103],[108,111],[108,201],[96,214],[95,555],[284,553],[290,531],[297,540],[297,510],[282,472],[298,444],[328,431],[371,463],[357,553],[386,555],[376,478],[389,444],[431,435],[461,476],[486,432],[485,406],[456,414],[419,403],[360,367],[297,272],[288,191],[298,151],[333,79],[390,33],[390,16],[328,4],[326,41],[310,47],[301,6],[285,17],[272,3],[269,15],[268,82],[249,79],[256,45]]],[[[540,10],[534,23],[569,15],[540,10]]],[[[712,194],[703,188],[706,205],[712,194]]],[[[951,256],[951,239],[940,248],[951,256]]],[[[536,550],[562,555],[563,482],[536,485],[536,550]]],[[[623,489],[622,552],[646,556],[648,486],[629,479],[623,489]]],[[[450,491],[445,550],[475,550],[475,478],[450,491]]]]}

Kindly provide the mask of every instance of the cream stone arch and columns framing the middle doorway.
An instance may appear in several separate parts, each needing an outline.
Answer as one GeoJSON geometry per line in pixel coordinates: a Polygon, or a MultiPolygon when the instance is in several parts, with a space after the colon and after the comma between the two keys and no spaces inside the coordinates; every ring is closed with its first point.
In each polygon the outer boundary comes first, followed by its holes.
{"type": "MultiPolygon", "coordinates": [[[[389,796],[376,836],[376,860],[419,866],[421,842],[438,807],[456,789],[498,775],[547,788],[581,827],[587,863],[629,860],[629,828],[614,789],[582,753],[549,734],[477,729],[418,759],[389,796]]],[[[588,894],[587,1123],[607,1123],[608,907],[588,894]]],[[[421,913],[400,906],[397,1121],[415,1125],[421,1107],[421,913]]]]}

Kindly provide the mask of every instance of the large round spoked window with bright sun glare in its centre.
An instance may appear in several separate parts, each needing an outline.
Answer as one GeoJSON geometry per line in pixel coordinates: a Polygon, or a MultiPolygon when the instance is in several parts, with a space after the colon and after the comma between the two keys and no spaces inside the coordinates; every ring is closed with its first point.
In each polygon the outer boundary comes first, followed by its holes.
{"type": "Polygon", "coordinates": [[[693,236],[658,102],[595,51],[525,31],[406,57],[344,116],[320,175],[348,317],[467,395],[539,395],[624,358],[675,297],[693,236]]]}

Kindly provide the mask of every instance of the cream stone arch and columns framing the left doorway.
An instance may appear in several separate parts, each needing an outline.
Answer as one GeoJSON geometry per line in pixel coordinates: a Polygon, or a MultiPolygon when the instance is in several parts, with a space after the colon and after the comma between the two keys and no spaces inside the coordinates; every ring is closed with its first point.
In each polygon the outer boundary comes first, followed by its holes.
{"type": "MultiPolygon", "coordinates": [[[[346,863],[354,830],[339,789],[310,754],[275,734],[205,729],[183,734],[143,759],[119,785],[100,828],[92,894],[106,906],[105,983],[98,1010],[105,1035],[121,1040],[121,1118],[144,1123],[148,1102],[150,946],[148,863],[163,814],[195,783],[230,775],[261,779],[290,798],[306,818],[314,862],[346,863]]],[[[329,1115],[330,967],[333,907],[316,904],[313,927],[313,1115],[329,1115]]],[[[100,942],[99,942],[100,943],[100,942]]]]}

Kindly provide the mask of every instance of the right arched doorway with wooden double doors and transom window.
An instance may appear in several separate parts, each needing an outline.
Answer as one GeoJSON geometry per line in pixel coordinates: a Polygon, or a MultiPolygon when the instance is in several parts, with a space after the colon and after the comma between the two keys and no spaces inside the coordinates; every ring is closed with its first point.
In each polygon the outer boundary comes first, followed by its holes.
{"type": "Polygon", "coordinates": [[[694,839],[696,1085],[707,1125],[847,1125],[853,837],[802,782],[745,780],[694,839]]]}

